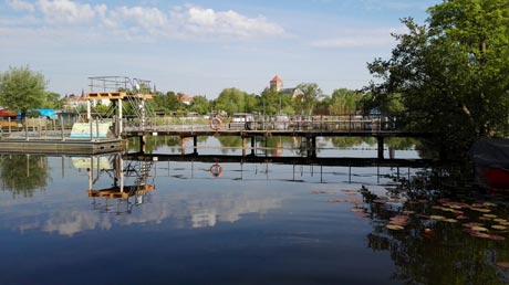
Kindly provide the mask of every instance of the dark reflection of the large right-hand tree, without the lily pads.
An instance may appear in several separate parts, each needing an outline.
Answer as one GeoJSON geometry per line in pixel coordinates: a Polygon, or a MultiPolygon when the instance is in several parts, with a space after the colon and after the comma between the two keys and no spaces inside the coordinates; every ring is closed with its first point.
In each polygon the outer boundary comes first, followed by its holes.
{"type": "MultiPolygon", "coordinates": [[[[507,270],[497,265],[509,261],[509,243],[474,238],[465,232],[464,223],[482,222],[482,213],[468,207],[466,220],[444,222],[429,219],[443,214],[454,217],[450,210],[440,210],[447,202],[482,203],[474,199],[444,199],[442,192],[428,190],[427,178],[404,181],[405,187],[388,189],[387,196],[404,198],[401,203],[381,202],[380,196],[363,192],[367,217],[373,221],[373,232],[367,235],[368,246],[375,251],[389,251],[397,266],[393,278],[406,284],[507,284],[507,270]],[[439,196],[439,197],[438,197],[439,196]],[[406,215],[408,224],[402,231],[388,230],[391,218],[406,215]]],[[[499,204],[492,214],[508,218],[508,207],[499,204]]],[[[456,213],[456,214],[459,214],[456,213]]],[[[484,221],[487,228],[491,222],[484,221]]],[[[494,233],[489,230],[490,234],[494,233]]],[[[497,233],[503,235],[507,233],[497,233]]]]}

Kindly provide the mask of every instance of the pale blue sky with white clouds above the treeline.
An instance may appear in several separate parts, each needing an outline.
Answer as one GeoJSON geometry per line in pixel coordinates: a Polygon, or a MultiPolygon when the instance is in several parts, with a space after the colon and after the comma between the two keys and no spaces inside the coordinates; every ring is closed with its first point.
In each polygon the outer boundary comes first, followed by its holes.
{"type": "Polygon", "coordinates": [[[440,0],[0,0],[0,72],[29,66],[48,89],[89,92],[92,76],[150,81],[157,91],[216,98],[316,83],[324,94],[373,80],[405,32],[440,0]]]}

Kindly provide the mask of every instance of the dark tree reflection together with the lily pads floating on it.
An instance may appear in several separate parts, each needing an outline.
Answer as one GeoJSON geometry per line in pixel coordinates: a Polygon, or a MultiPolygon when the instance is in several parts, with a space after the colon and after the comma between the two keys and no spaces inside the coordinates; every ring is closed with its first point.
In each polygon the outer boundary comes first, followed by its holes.
{"type": "MultiPolygon", "coordinates": [[[[405,284],[508,284],[509,202],[476,194],[446,198],[429,173],[359,190],[322,189],[312,194],[351,204],[373,226],[367,246],[389,252],[392,278],[405,284]]],[[[394,179],[396,181],[396,179],[394,179]]],[[[324,200],[325,201],[325,198],[324,200]]]]}

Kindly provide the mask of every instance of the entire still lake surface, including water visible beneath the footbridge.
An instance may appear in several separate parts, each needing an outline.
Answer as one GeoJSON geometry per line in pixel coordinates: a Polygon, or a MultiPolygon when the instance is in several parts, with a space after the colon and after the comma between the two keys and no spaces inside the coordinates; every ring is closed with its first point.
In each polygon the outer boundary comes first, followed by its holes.
{"type": "MultiPolygon", "coordinates": [[[[377,154],[320,142],[319,156],[377,154]]],[[[264,154],[299,155],[291,145],[264,154]]],[[[154,151],[180,152],[166,140],[154,151]]],[[[2,155],[0,171],[0,284],[509,282],[506,199],[445,197],[427,168],[2,155]],[[134,184],[154,189],[89,193],[134,184]]]]}

